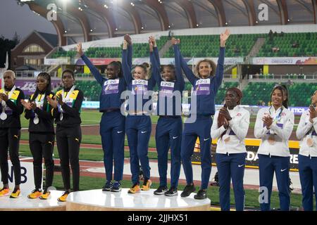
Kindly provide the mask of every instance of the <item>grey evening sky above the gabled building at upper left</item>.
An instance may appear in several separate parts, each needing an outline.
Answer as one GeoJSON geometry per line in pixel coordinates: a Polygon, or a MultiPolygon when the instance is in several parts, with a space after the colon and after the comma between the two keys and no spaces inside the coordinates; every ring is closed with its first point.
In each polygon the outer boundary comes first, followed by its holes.
{"type": "Polygon", "coordinates": [[[27,4],[19,6],[15,0],[0,1],[0,36],[11,39],[16,31],[23,39],[32,30],[56,34],[51,22],[33,13],[27,4]]]}

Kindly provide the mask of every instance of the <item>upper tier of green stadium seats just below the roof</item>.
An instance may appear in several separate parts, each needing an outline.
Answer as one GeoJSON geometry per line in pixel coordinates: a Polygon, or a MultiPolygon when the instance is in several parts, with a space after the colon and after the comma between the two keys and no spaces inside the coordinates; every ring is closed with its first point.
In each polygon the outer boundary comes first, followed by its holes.
{"type": "MultiPolygon", "coordinates": [[[[259,37],[266,39],[258,53],[258,57],[287,57],[287,56],[317,56],[317,32],[309,33],[283,33],[269,37],[268,34],[232,34],[226,43],[226,57],[244,57],[247,56],[259,37]],[[293,44],[298,44],[293,47],[293,44]],[[278,48],[279,51],[273,52],[272,48],[278,48]]],[[[178,36],[180,38],[180,51],[182,56],[187,58],[218,57],[219,54],[219,36],[218,35],[186,35],[178,36]]],[[[168,41],[168,37],[162,36],[158,39],[157,45],[161,49],[168,41]]],[[[149,57],[149,44],[133,44],[133,57],[149,57]]],[[[120,58],[121,47],[94,47],[86,51],[89,58],[120,58]]],[[[76,56],[76,51],[60,50],[51,56],[51,58],[76,56]]],[[[170,48],[163,56],[164,58],[173,58],[173,48],[170,48]]]]}

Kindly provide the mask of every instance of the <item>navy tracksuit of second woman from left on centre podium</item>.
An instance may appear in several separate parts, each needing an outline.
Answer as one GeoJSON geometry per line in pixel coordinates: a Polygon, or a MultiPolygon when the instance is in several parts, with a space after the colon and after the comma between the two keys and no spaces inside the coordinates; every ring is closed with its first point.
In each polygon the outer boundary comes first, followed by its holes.
{"type": "Polygon", "coordinates": [[[123,76],[127,83],[129,94],[127,110],[129,115],[125,120],[125,132],[130,148],[130,166],[132,183],[139,184],[139,162],[141,163],[144,179],[150,178],[149,158],[147,156],[151,136],[151,96],[147,91],[154,88],[153,77],[149,80],[132,79],[132,46],[122,53],[123,76]],[[148,99],[146,99],[149,97],[148,99]],[[147,108],[147,105],[149,106],[147,108]],[[147,108],[147,109],[144,109],[147,108]],[[141,115],[138,113],[141,112],[141,115]]]}

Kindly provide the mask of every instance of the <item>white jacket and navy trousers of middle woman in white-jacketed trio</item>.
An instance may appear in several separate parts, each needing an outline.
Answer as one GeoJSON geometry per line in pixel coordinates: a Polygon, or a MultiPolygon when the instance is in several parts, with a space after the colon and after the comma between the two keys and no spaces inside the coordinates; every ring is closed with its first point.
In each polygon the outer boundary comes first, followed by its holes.
{"type": "Polygon", "coordinates": [[[268,190],[268,203],[260,203],[261,210],[270,210],[273,175],[275,172],[280,197],[280,210],[290,210],[290,148],[288,140],[294,127],[294,114],[284,106],[275,110],[273,106],[261,108],[256,116],[254,136],[261,139],[258,150],[260,187],[268,190]],[[264,116],[273,117],[267,129],[264,116]]]}

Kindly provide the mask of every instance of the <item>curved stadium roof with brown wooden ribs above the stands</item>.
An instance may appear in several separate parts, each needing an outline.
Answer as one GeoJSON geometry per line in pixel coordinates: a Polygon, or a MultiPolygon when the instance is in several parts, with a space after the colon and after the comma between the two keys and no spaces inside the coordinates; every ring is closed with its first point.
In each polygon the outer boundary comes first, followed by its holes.
{"type": "Polygon", "coordinates": [[[316,24],[317,0],[15,0],[44,18],[58,45],[196,27],[316,24]],[[55,4],[56,8],[49,8],[55,4]],[[267,20],[259,15],[267,9],[267,20]]]}

